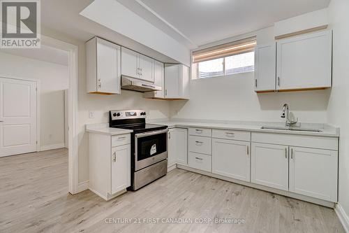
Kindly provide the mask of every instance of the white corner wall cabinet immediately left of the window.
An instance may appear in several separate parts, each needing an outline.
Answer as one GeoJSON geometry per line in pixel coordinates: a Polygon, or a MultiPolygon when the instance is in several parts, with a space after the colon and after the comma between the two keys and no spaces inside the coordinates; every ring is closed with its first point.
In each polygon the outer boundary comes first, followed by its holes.
{"type": "Polygon", "coordinates": [[[189,99],[189,67],[165,64],[165,99],[189,99]]]}

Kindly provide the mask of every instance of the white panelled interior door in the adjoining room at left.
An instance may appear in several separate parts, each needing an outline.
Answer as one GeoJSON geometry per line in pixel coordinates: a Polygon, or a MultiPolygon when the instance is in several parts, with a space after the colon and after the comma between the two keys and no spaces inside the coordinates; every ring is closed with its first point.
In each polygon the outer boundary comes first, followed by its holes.
{"type": "Polygon", "coordinates": [[[0,157],[36,151],[36,82],[0,78],[0,157]]]}

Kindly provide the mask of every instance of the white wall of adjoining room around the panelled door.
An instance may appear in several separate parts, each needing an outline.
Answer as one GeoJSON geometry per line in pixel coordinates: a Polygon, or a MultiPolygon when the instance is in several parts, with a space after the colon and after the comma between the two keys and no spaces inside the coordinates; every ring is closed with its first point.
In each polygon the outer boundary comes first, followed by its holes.
{"type": "Polygon", "coordinates": [[[40,146],[64,146],[64,89],[68,66],[0,52],[0,76],[40,80],[40,146]]]}

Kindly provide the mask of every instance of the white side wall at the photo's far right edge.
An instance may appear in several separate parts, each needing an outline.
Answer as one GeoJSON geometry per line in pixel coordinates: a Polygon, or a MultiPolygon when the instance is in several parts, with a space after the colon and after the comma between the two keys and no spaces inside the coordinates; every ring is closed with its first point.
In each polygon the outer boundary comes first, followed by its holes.
{"type": "MultiPolygon", "coordinates": [[[[349,216],[349,1],[332,0],[329,18],[333,28],[333,87],[328,122],[341,127],[339,143],[339,204],[349,216]]],[[[347,223],[349,224],[349,223],[347,223]]]]}

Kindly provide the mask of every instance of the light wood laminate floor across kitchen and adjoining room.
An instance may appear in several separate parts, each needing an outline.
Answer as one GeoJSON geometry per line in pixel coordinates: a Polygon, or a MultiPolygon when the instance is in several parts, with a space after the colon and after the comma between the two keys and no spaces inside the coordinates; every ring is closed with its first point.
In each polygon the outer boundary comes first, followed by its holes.
{"type": "Polygon", "coordinates": [[[110,202],[89,190],[69,195],[67,174],[66,149],[0,158],[0,232],[344,232],[333,209],[181,169],[110,202]],[[117,218],[141,224],[105,223],[117,218]]]}

